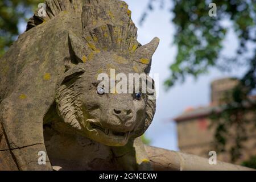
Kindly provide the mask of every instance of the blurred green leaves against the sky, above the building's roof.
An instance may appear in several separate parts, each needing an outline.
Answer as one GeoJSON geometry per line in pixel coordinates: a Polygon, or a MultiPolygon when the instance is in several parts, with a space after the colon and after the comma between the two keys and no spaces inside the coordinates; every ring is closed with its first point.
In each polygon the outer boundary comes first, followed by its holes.
{"type": "MultiPolygon", "coordinates": [[[[143,14],[141,23],[146,19],[148,11],[154,10],[156,3],[163,7],[166,1],[149,0],[148,10],[143,14]]],[[[165,82],[168,88],[177,81],[184,81],[189,75],[198,77],[208,72],[210,67],[227,69],[231,63],[238,62],[252,66],[255,57],[248,57],[247,53],[249,44],[255,47],[255,0],[171,0],[171,3],[174,4],[171,13],[174,14],[174,44],[178,52],[175,63],[170,66],[171,75],[165,82]],[[217,5],[217,16],[210,17],[209,4],[212,2],[217,5]],[[222,41],[230,28],[224,25],[224,20],[232,22],[232,28],[239,40],[237,53],[233,57],[221,55],[222,41]]]]}

